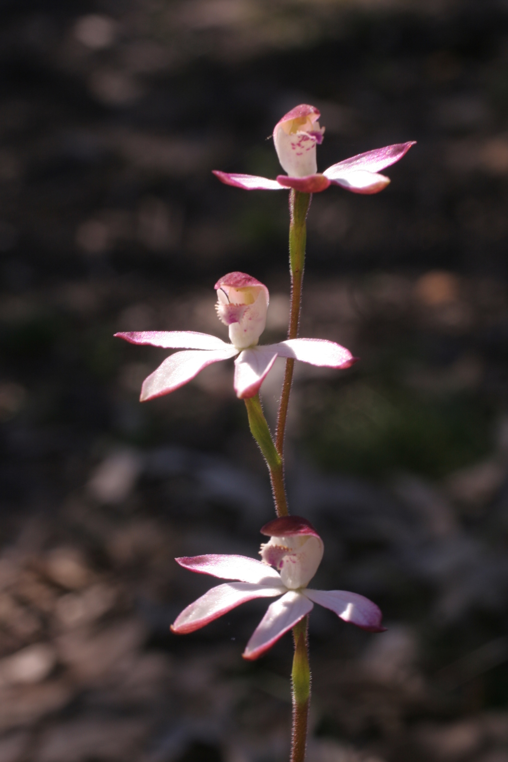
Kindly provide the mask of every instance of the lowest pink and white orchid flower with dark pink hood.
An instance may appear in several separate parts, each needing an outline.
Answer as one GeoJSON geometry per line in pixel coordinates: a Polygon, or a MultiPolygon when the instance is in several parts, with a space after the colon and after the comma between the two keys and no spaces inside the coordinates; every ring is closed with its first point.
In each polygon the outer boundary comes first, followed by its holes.
{"type": "Polygon", "coordinates": [[[186,635],[254,598],[282,596],[268,607],[244,650],[246,659],[257,659],[319,604],[344,622],[369,632],[384,632],[382,613],[363,595],[343,590],[310,590],[323,557],[323,541],[308,520],[298,516],[274,519],[261,529],[270,541],[261,546],[262,561],[245,555],[194,555],[175,561],[190,571],[221,579],[219,584],[187,606],[171,625],[186,635]],[[272,568],[274,567],[274,568],[272,568]]]}

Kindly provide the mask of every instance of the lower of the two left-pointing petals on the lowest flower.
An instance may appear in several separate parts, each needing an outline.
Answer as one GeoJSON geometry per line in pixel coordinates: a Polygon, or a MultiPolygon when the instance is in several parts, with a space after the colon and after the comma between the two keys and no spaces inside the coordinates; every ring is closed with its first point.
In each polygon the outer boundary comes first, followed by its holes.
{"type": "MultiPolygon", "coordinates": [[[[171,625],[177,635],[187,635],[201,629],[213,620],[219,619],[228,611],[254,598],[274,598],[282,592],[280,587],[268,588],[266,585],[249,582],[226,582],[212,588],[193,604],[187,606],[171,625]]],[[[312,605],[312,604],[311,604],[312,605]]]]}

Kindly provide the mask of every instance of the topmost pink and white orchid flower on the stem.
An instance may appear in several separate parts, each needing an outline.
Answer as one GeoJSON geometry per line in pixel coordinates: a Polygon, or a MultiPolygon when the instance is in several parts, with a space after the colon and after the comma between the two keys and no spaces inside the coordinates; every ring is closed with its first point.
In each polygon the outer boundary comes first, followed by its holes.
{"type": "Polygon", "coordinates": [[[319,193],[330,185],[340,185],[347,191],[361,194],[379,193],[390,182],[380,169],[401,159],[416,141],[395,143],[374,151],[360,153],[343,162],[331,165],[321,174],[316,162],[316,146],[323,142],[324,127],[319,126],[321,116],[315,106],[300,104],[290,110],[273,130],[273,142],[280,165],[287,172],[276,180],[253,174],[235,174],[214,170],[213,174],[226,185],[246,191],[282,191],[295,188],[304,193],[319,193]]]}

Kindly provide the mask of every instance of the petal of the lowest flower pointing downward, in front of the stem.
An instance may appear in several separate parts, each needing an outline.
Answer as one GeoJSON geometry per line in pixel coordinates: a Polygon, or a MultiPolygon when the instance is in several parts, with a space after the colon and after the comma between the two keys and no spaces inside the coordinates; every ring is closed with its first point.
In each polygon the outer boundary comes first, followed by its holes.
{"type": "Polygon", "coordinates": [[[263,655],[312,608],[312,602],[297,591],[289,591],[280,600],[270,604],[242,654],[244,659],[252,661],[263,655]]]}

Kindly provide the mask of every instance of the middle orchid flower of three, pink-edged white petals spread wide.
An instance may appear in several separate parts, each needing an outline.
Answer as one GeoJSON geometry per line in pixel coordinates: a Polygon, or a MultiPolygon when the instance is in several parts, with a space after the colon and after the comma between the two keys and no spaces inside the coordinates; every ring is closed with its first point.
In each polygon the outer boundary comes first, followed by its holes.
{"type": "Polygon", "coordinates": [[[348,368],[356,358],[345,347],[318,338],[294,338],[278,344],[257,346],[267,322],[269,293],[259,280],[245,273],[229,273],[216,283],[219,319],[229,326],[227,344],[222,339],[196,331],[129,331],[115,336],[131,344],[185,348],[167,357],[142,384],[141,401],[174,392],[211,363],[235,360],[235,392],[240,399],[254,397],[276,357],[294,357],[304,363],[330,368],[348,368]]]}

